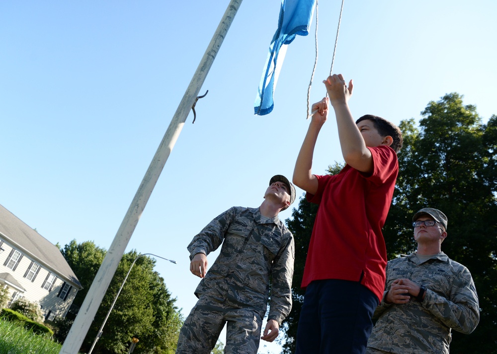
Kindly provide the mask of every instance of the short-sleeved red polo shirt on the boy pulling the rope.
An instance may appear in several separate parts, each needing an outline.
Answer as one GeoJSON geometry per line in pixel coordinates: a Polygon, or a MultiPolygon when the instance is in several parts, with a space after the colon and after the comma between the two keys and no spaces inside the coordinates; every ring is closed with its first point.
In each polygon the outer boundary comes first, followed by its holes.
{"type": "Polygon", "coordinates": [[[369,148],[373,172],[365,175],[346,165],[334,176],[316,176],[318,191],[307,199],[319,204],[309,243],[302,287],[313,280],[362,280],[381,301],[387,251],[381,229],[392,202],[399,172],[389,146],[369,148]]]}

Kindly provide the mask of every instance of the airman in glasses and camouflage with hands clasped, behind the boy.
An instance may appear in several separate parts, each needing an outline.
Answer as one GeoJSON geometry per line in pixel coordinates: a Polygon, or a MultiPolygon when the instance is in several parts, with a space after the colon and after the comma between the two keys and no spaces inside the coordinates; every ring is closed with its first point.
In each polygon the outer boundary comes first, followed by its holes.
{"type": "Polygon", "coordinates": [[[478,295],[465,266],[440,250],[447,217],[424,208],[413,218],[417,252],[387,264],[385,293],[373,318],[368,354],[449,353],[451,330],[469,334],[480,321],[478,295]]]}

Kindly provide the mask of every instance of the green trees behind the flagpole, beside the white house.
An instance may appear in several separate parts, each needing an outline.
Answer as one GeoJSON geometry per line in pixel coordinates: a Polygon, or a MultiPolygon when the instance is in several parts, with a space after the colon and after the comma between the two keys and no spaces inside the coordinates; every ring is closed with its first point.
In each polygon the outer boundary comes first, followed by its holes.
{"type": "MultiPolygon", "coordinates": [[[[81,304],[106,251],[96,247],[91,241],[77,244],[73,240],[62,252],[69,265],[72,268],[75,265],[73,270],[83,287],[86,287],[86,291],[78,293],[75,299],[77,304],[81,304]]],[[[83,342],[82,350],[89,350],[115,295],[131,269],[93,353],[127,353],[133,337],[140,340],[133,353],[174,353],[183,319],[174,305],[176,299],[171,297],[164,279],[153,270],[155,263],[155,259],[141,256],[134,250],[123,255],[83,342]]]]}

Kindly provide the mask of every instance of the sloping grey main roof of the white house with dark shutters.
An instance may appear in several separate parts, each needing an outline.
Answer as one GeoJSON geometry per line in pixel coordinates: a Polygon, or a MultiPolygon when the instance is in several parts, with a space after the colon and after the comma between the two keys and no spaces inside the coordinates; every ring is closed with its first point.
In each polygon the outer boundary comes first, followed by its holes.
{"type": "Polygon", "coordinates": [[[36,263],[58,274],[70,285],[78,289],[83,288],[59,248],[2,205],[0,205],[0,235],[4,241],[11,243],[14,248],[36,263]]]}

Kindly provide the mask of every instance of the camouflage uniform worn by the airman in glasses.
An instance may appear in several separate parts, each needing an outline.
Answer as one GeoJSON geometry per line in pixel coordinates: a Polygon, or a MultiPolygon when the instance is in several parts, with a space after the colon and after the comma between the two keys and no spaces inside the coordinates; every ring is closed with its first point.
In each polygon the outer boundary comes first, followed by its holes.
{"type": "Polygon", "coordinates": [[[426,262],[413,253],[387,264],[385,293],[373,318],[378,318],[366,353],[449,353],[451,329],[469,334],[480,321],[478,295],[465,266],[443,252],[426,262]],[[392,282],[407,278],[426,287],[422,302],[385,303],[392,282]],[[380,352],[381,353],[381,352],[380,352]]]}

